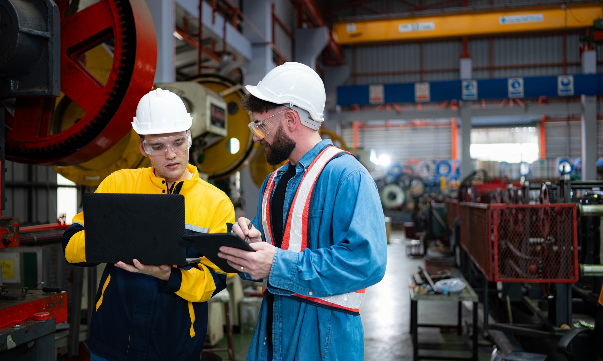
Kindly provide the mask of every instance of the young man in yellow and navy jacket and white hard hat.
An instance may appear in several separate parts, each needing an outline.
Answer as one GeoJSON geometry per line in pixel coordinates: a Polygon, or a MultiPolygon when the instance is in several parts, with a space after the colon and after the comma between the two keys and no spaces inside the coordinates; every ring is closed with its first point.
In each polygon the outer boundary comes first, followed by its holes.
{"type": "MultiPolygon", "coordinates": [[[[230,230],[235,211],[223,191],[199,177],[188,164],[191,115],[182,99],[168,90],[145,94],[132,122],[140,135],[140,152],[152,167],[112,173],[97,193],[157,193],[185,196],[186,232],[223,233],[230,230]]],[[[140,209],[140,212],[162,212],[140,209]]],[[[73,218],[63,234],[65,258],[86,262],[84,214],[73,218]]],[[[187,257],[198,257],[187,246],[187,257]]],[[[207,332],[207,300],[226,286],[226,274],[206,258],[194,267],[107,264],[92,310],[92,361],[194,360],[203,351],[207,332]]]]}

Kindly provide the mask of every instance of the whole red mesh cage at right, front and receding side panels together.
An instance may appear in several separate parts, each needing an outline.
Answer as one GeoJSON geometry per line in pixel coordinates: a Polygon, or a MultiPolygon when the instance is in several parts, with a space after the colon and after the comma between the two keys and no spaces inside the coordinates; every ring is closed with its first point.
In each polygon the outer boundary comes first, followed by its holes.
{"type": "Polygon", "coordinates": [[[460,203],[461,246],[490,281],[578,280],[576,205],[460,203]]]}

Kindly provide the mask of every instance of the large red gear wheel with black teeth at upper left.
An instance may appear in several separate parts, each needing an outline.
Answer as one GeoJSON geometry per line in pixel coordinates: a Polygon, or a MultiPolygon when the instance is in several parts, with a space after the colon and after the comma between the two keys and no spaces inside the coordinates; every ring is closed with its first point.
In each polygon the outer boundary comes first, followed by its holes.
{"type": "Polygon", "coordinates": [[[101,0],[74,14],[68,14],[68,0],[58,0],[58,7],[61,91],[86,115],[57,131],[54,98],[17,99],[14,117],[5,113],[7,158],[13,161],[53,166],[89,161],[131,129],[140,97],[153,87],[157,42],[144,0],[101,0]],[[84,66],[83,54],[111,39],[113,67],[103,84],[84,66]]]}

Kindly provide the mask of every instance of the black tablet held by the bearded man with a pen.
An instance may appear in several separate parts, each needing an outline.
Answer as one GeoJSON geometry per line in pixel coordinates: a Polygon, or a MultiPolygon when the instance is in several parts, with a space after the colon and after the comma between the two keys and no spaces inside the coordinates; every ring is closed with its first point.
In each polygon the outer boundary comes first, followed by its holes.
{"type": "Polygon", "coordinates": [[[226,259],[218,256],[220,247],[224,245],[245,251],[256,251],[235,233],[188,233],[182,238],[226,273],[240,273],[241,270],[230,267],[226,259]]]}

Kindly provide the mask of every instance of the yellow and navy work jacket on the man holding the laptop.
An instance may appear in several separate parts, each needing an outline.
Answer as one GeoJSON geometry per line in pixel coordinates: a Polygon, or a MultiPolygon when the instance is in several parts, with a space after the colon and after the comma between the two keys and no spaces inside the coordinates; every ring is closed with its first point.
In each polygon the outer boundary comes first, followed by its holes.
{"type": "MultiPolygon", "coordinates": [[[[185,196],[187,233],[224,233],[235,221],[235,211],[223,191],[199,177],[177,182],[172,193],[185,196]]],[[[165,179],[153,168],[124,169],[112,173],[97,193],[169,193],[165,179]]],[[[144,210],[157,211],[157,210],[144,210]]],[[[65,258],[86,262],[84,214],[75,215],[63,234],[65,258]]],[[[187,245],[187,257],[200,257],[187,245]]],[[[207,300],[226,286],[226,274],[208,259],[194,267],[172,268],[168,282],[130,273],[107,264],[96,293],[88,347],[109,360],[194,360],[203,351],[207,333],[207,300]]]]}

